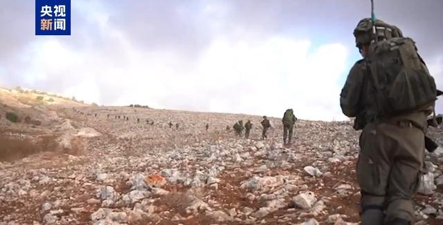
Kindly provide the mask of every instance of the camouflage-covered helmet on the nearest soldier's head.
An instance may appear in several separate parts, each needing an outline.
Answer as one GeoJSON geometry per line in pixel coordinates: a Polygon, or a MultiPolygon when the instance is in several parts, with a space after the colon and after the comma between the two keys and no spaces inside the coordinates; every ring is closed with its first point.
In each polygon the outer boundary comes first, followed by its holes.
{"type": "MultiPolygon", "coordinates": [[[[375,20],[375,30],[377,33],[377,40],[391,39],[392,37],[403,37],[403,33],[399,28],[385,23],[381,19],[375,20]]],[[[372,20],[370,18],[365,18],[359,21],[354,29],[354,37],[357,47],[360,47],[363,44],[368,44],[374,40],[372,20]]]]}

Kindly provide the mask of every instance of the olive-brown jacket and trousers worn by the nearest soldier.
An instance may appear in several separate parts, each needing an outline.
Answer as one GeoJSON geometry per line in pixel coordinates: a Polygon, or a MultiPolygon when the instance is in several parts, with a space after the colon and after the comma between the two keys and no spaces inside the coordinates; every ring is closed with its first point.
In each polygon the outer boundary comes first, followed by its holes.
{"type": "Polygon", "coordinates": [[[413,224],[413,195],[424,160],[426,117],[431,108],[397,117],[377,115],[374,89],[365,59],[351,68],[341,91],[343,113],[356,117],[359,139],[357,182],[361,188],[361,222],[413,224]]]}

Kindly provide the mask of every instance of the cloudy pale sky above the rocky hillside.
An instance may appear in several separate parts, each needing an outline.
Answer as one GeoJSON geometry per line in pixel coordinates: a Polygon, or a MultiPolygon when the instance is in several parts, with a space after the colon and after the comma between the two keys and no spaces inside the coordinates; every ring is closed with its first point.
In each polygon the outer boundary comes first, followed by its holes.
{"type": "MultiPolygon", "coordinates": [[[[443,1],[375,0],[443,88],[443,1]]],[[[106,106],[345,120],[369,0],[71,0],[71,36],[35,36],[35,1],[1,0],[0,86],[106,106]]],[[[437,113],[443,110],[437,101],[437,113]]]]}

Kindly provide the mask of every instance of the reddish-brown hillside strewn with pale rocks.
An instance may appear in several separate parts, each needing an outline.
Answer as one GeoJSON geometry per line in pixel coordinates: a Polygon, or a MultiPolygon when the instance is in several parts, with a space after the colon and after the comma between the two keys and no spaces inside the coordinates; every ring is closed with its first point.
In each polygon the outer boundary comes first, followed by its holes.
{"type": "MultiPolygon", "coordinates": [[[[359,221],[359,133],[350,122],[298,121],[284,147],[279,118],[262,141],[259,116],[40,107],[40,126],[0,118],[9,146],[0,158],[0,224],[359,221]],[[239,119],[251,119],[251,139],[233,133],[239,119]]],[[[419,224],[443,222],[441,157],[440,148],[427,156],[437,186],[416,197],[419,224]]]]}

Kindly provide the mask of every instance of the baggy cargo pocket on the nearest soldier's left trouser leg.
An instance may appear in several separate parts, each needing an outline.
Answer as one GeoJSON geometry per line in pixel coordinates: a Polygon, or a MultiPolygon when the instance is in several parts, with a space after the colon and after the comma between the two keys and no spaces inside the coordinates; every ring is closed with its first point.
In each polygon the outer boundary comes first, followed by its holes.
{"type": "Polygon", "coordinates": [[[362,190],[374,194],[383,192],[383,190],[379,190],[379,168],[367,155],[360,153],[356,166],[356,174],[357,182],[359,182],[362,190]]]}

